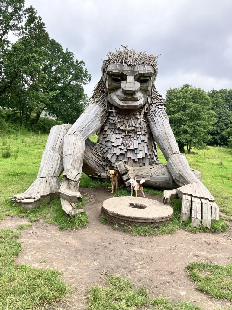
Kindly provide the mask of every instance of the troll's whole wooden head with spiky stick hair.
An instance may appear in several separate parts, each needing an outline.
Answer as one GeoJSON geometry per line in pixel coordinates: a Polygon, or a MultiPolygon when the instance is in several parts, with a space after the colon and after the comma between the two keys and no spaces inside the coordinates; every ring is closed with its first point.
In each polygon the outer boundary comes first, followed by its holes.
{"type": "Polygon", "coordinates": [[[146,52],[123,50],[108,52],[103,60],[102,77],[92,100],[106,100],[120,109],[149,105],[157,77],[157,57],[146,52]]]}

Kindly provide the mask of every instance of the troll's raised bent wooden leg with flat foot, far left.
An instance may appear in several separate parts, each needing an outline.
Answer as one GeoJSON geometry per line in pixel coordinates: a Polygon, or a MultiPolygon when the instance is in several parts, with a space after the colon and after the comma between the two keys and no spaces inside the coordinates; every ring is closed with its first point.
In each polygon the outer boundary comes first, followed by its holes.
{"type": "Polygon", "coordinates": [[[11,196],[12,201],[28,209],[59,196],[59,175],[63,171],[63,137],[70,127],[70,124],[65,124],[51,128],[36,180],[24,193],[11,196]]]}

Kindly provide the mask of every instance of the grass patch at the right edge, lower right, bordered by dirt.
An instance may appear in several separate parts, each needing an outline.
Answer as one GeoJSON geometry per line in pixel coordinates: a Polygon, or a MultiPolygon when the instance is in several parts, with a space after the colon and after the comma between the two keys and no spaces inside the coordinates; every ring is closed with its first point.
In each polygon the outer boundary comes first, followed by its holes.
{"type": "Polygon", "coordinates": [[[195,286],[213,297],[232,300],[232,263],[227,266],[189,263],[189,277],[195,286]]]}

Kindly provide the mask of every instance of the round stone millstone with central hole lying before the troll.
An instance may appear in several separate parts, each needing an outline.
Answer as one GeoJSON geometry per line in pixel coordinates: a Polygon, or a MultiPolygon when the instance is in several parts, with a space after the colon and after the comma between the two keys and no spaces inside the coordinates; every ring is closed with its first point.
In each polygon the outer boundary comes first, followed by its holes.
{"type": "Polygon", "coordinates": [[[114,224],[145,224],[158,227],[173,217],[173,208],[153,199],[113,197],[103,201],[101,214],[114,224]]]}

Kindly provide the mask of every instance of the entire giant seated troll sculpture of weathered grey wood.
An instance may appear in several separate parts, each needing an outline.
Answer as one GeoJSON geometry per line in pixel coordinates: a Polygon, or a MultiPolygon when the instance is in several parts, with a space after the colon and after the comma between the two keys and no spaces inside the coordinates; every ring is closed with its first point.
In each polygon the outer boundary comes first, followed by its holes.
{"type": "Polygon", "coordinates": [[[25,193],[11,199],[35,208],[60,196],[62,209],[71,218],[82,201],[81,171],[91,178],[107,179],[109,169],[118,169],[126,186],[129,177],[136,176],[145,178],[147,186],[169,189],[163,202],[182,198],[181,220],[191,216],[192,226],[199,227],[202,219],[210,227],[211,219],[218,219],[218,206],[201,183],[200,172],[190,168],[178,149],[154,84],[157,56],[123,47],[107,57],[91,103],[75,124],[52,127],[37,179],[25,193]],[[95,131],[96,144],[88,139],[95,131]],[[155,142],[167,165],[159,162],[155,142]]]}

